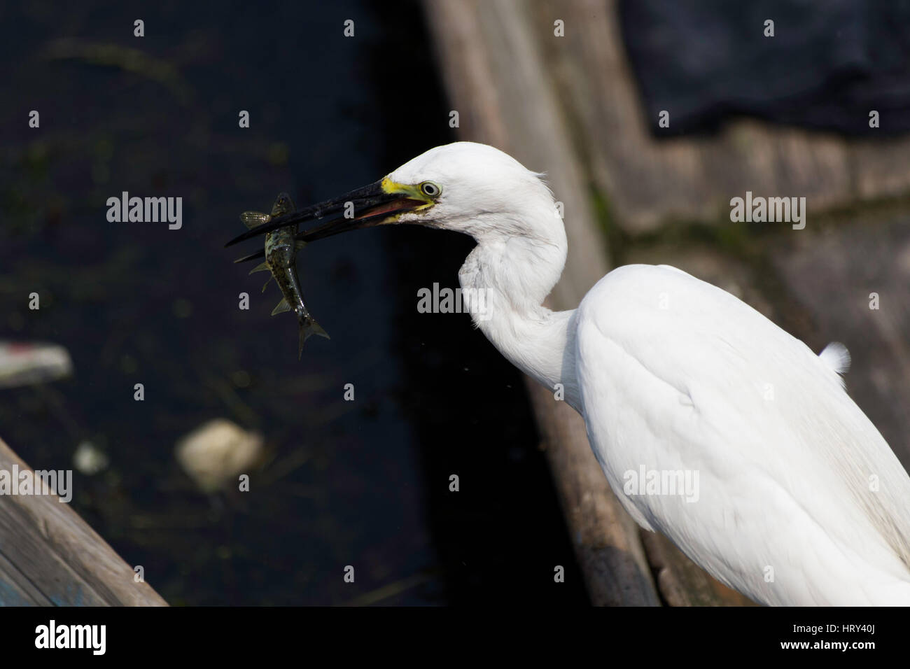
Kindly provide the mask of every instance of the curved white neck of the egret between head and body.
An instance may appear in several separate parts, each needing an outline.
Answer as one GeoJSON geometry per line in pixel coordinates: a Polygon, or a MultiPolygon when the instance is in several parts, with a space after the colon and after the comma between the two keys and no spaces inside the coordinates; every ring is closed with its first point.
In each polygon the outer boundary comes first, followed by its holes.
{"type": "Polygon", "coordinates": [[[504,236],[483,226],[468,230],[477,246],[459,271],[461,289],[486,297],[482,314],[471,306],[471,318],[507,360],[580,411],[575,310],[552,311],[542,305],[565,265],[565,229],[561,221],[515,228],[537,234],[504,236]]]}

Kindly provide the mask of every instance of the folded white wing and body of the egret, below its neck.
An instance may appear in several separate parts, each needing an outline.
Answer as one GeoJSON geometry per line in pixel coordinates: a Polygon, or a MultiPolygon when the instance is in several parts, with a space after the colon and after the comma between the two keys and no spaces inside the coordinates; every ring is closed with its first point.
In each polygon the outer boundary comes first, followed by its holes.
{"type": "Polygon", "coordinates": [[[604,277],[576,322],[591,447],[642,526],[757,601],[910,603],[910,477],[803,342],[651,266],[604,277]],[[628,492],[678,471],[697,495],[628,492]]]}

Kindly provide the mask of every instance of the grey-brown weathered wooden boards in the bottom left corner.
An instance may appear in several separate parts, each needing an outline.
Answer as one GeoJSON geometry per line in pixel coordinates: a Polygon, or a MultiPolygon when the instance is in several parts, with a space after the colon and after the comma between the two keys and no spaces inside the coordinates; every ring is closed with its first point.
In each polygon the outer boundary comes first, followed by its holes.
{"type": "MultiPolygon", "coordinates": [[[[29,470],[0,440],[0,470],[29,470]]],[[[0,597],[5,603],[167,606],[56,495],[0,496],[0,597]],[[7,599],[8,598],[8,599],[7,599]]]]}

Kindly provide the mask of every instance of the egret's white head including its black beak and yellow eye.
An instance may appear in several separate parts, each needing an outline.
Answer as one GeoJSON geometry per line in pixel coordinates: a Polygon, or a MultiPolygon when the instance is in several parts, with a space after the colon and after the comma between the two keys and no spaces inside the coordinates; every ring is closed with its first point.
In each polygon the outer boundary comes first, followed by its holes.
{"type": "Polygon", "coordinates": [[[228,245],[315,221],[320,225],[300,232],[299,239],[309,242],[395,223],[456,230],[481,242],[515,236],[564,239],[565,235],[541,175],[497,148],[455,142],[431,148],[367,187],[274,218],[228,245]]]}

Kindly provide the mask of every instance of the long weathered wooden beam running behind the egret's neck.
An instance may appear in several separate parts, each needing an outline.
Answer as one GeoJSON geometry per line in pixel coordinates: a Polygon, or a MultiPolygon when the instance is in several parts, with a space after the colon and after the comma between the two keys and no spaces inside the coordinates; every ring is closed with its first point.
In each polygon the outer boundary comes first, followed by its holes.
{"type": "MultiPolygon", "coordinates": [[[[550,303],[574,308],[608,269],[606,242],[522,5],[427,0],[426,9],[460,136],[546,170],[564,205],[570,258],[550,303]]],[[[531,398],[591,601],[659,603],[634,523],[603,477],[581,417],[546,389],[532,388],[531,398]]]]}

